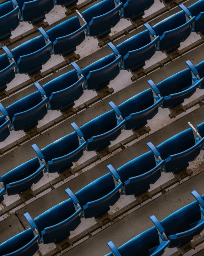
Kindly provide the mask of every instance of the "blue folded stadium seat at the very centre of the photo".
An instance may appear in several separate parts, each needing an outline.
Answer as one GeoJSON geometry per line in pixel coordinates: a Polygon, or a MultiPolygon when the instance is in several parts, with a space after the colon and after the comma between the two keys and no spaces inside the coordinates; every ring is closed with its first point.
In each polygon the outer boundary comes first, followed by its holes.
{"type": "Polygon", "coordinates": [[[87,141],[87,151],[100,151],[111,145],[111,140],[116,140],[121,134],[121,129],[126,120],[117,124],[114,110],[96,117],[80,128],[73,122],[71,126],[80,137],[81,143],[87,141]]]}

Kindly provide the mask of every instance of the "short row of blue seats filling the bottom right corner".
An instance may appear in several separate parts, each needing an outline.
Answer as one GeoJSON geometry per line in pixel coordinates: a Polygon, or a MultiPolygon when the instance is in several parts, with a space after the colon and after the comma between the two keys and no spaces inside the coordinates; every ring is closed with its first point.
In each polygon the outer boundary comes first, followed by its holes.
{"type": "Polygon", "coordinates": [[[112,252],[106,256],[131,256],[134,254],[161,256],[167,247],[178,248],[190,242],[194,236],[204,230],[204,217],[202,217],[204,195],[201,197],[195,190],[191,193],[197,201],[184,206],[160,222],[154,215],[151,216],[150,219],[155,227],[144,231],[118,248],[112,241],[109,241],[107,245],[112,252]],[[162,238],[161,243],[159,237],[162,238]]]}

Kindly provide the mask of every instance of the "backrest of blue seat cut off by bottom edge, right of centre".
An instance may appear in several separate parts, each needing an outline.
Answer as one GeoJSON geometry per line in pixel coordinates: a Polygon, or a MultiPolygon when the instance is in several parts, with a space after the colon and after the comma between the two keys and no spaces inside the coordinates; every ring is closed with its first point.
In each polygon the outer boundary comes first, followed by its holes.
{"type": "Polygon", "coordinates": [[[149,249],[159,246],[157,228],[153,227],[118,248],[121,256],[149,256],[149,249]]]}

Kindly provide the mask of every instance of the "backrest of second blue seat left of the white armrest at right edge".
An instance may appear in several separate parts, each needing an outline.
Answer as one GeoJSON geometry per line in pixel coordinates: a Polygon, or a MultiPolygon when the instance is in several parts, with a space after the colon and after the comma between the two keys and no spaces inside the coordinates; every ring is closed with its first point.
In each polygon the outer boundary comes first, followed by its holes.
{"type": "Polygon", "coordinates": [[[127,164],[119,167],[117,173],[121,177],[122,183],[126,182],[129,178],[149,172],[156,166],[154,154],[149,151],[137,158],[129,161],[127,164]]]}

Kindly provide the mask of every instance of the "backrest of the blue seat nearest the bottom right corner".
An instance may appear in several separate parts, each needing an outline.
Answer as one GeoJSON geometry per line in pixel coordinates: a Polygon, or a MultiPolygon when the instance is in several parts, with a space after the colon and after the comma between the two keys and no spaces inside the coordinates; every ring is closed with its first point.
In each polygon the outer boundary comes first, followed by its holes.
{"type": "Polygon", "coordinates": [[[162,224],[165,234],[168,236],[175,235],[190,229],[190,224],[200,221],[200,206],[197,201],[184,206],[178,211],[170,214],[163,219],[162,224]]]}

